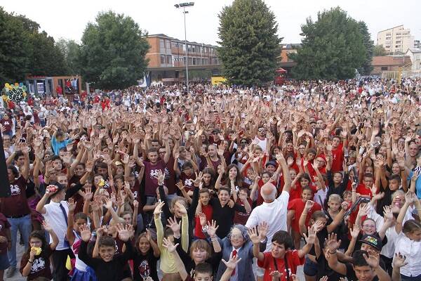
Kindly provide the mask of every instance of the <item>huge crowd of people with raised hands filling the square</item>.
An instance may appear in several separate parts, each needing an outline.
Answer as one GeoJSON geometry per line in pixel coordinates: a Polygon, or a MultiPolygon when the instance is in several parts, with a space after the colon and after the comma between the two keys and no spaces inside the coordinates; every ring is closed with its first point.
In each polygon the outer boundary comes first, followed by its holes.
{"type": "Polygon", "coordinates": [[[420,93],[366,79],[8,103],[0,280],[421,280],[420,93]]]}

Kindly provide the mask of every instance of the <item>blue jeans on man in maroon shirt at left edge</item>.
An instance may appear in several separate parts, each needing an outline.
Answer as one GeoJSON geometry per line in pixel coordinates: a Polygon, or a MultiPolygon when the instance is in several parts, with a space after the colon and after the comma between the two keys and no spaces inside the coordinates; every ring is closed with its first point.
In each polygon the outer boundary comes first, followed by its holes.
{"type": "Polygon", "coordinates": [[[12,235],[12,249],[7,251],[11,267],[16,267],[16,240],[18,238],[18,230],[22,235],[23,242],[25,243],[25,251],[29,247],[29,235],[32,231],[31,215],[22,216],[22,218],[7,218],[11,224],[11,235],[12,235]]]}

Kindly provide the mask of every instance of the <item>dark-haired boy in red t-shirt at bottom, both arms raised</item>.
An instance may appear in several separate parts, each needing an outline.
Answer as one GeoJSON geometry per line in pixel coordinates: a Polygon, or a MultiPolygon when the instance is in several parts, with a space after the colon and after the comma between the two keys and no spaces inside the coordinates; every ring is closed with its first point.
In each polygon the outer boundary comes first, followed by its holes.
{"type": "Polygon", "coordinates": [[[295,274],[297,267],[304,264],[304,257],[312,249],[316,240],[316,233],[312,228],[308,229],[308,233],[308,237],[303,233],[307,244],[302,249],[290,250],[293,247],[292,237],[286,231],[279,230],[272,237],[271,251],[266,253],[259,250],[260,237],[257,234],[250,236],[250,240],[253,242],[253,254],[258,259],[258,266],[265,269],[264,281],[272,281],[272,274],[275,271],[285,273],[281,276],[281,281],[290,280],[290,274],[295,274]]]}

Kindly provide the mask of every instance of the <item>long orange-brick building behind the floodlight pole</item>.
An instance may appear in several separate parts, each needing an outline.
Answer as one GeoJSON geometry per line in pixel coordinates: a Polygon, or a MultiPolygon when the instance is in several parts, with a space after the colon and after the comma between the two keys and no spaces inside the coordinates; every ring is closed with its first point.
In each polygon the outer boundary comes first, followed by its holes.
{"type": "MultiPolygon", "coordinates": [[[[186,46],[184,40],[168,37],[165,34],[148,35],[151,48],[146,55],[149,68],[182,67],[186,63],[186,46]]],[[[187,61],[189,66],[219,65],[216,46],[187,41],[187,61]]]]}

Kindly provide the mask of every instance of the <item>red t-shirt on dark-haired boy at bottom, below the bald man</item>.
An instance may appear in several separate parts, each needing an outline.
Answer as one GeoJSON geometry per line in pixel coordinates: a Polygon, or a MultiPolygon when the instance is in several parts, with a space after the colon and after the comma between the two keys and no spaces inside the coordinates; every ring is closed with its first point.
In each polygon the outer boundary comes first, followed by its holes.
{"type": "MultiPolygon", "coordinates": [[[[270,273],[276,270],[275,261],[278,268],[277,270],[279,271],[279,273],[283,273],[281,281],[286,281],[285,259],[274,259],[271,252],[266,252],[264,253],[264,255],[265,259],[263,259],[263,261],[258,261],[258,266],[260,266],[260,268],[265,269],[263,281],[272,281],[272,276],[270,275],[270,273]]],[[[285,258],[288,262],[288,270],[290,276],[292,274],[296,274],[297,267],[302,266],[304,264],[304,256],[300,258],[300,256],[298,256],[297,250],[286,251],[285,258]]]]}

